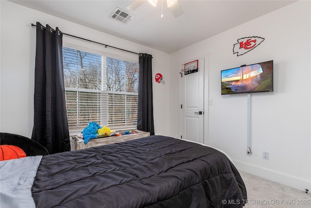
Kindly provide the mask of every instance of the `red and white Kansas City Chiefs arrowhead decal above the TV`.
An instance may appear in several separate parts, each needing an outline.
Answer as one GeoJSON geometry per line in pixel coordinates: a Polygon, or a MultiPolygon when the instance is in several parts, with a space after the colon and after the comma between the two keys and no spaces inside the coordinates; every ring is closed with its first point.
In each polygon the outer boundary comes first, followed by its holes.
{"type": "Polygon", "coordinates": [[[256,48],[264,38],[260,37],[246,37],[238,39],[238,43],[233,45],[233,54],[241,56],[254,48],[256,48]]]}

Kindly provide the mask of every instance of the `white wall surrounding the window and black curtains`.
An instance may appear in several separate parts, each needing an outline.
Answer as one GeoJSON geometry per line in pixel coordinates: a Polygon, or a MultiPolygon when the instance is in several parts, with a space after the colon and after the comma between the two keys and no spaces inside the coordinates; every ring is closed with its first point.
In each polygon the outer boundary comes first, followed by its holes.
{"type": "MultiPolygon", "coordinates": [[[[31,23],[49,24],[71,35],[102,42],[114,47],[153,55],[153,75],[161,73],[165,85],[153,82],[155,134],[168,134],[169,55],[125,39],[117,38],[85,26],[59,19],[24,6],[0,1],[1,9],[1,71],[0,71],[0,131],[31,137],[34,119],[35,38],[36,29],[31,23]]],[[[77,40],[64,36],[64,42],[77,40]]],[[[90,43],[85,43],[90,44],[90,43]]],[[[87,46],[86,46],[87,47],[87,46]]],[[[104,49],[107,53],[121,53],[104,49]]],[[[128,58],[138,55],[123,53],[128,58]]],[[[155,79],[153,79],[155,80],[155,79]]]]}

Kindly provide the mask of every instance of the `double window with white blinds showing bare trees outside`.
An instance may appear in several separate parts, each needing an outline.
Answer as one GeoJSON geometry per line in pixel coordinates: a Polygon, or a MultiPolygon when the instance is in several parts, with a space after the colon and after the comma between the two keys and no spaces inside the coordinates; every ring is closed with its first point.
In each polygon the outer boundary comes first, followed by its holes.
{"type": "Polygon", "coordinates": [[[63,47],[69,131],[137,127],[138,63],[63,47]]]}

